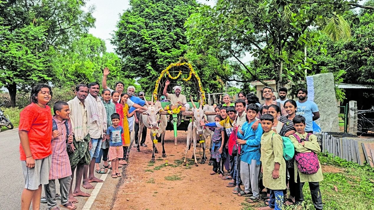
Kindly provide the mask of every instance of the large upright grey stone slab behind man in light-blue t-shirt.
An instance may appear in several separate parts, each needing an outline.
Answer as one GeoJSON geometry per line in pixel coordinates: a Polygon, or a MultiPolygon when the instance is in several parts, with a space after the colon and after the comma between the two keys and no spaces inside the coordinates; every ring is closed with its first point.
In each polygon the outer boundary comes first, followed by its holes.
{"type": "Polygon", "coordinates": [[[338,108],[335,98],[334,75],[315,74],[306,77],[308,100],[317,104],[319,119],[315,122],[322,132],[339,132],[338,108]]]}

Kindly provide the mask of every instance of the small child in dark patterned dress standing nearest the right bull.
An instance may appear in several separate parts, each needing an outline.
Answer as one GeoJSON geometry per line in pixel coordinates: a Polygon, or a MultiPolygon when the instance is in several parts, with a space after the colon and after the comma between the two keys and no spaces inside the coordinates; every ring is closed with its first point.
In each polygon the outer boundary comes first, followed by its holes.
{"type": "MultiPolygon", "coordinates": [[[[219,123],[222,119],[221,115],[216,115],[214,121],[219,123]]],[[[226,153],[224,152],[223,146],[225,142],[225,132],[223,128],[211,128],[214,130],[214,134],[212,137],[212,160],[213,160],[213,171],[210,173],[211,175],[215,175],[216,173],[219,174],[219,177],[223,177],[223,163],[221,156],[226,157],[226,153]],[[224,154],[222,154],[224,152],[224,154]]]]}

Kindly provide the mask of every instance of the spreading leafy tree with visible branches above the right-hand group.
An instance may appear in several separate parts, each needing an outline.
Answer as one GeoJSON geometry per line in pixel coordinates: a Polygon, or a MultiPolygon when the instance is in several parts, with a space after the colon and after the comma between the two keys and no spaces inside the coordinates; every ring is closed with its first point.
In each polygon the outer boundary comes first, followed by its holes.
{"type": "Polygon", "coordinates": [[[305,45],[319,44],[318,31],[310,28],[319,27],[335,39],[348,39],[350,28],[342,14],[355,7],[374,9],[356,0],[218,0],[215,7],[200,6],[199,12],[191,15],[186,23],[187,37],[197,48],[230,52],[251,80],[266,84],[242,61],[245,52],[252,53],[261,65],[272,67],[267,73],[275,75],[280,87],[288,80],[300,80],[297,75],[316,63],[294,55],[305,45]]]}

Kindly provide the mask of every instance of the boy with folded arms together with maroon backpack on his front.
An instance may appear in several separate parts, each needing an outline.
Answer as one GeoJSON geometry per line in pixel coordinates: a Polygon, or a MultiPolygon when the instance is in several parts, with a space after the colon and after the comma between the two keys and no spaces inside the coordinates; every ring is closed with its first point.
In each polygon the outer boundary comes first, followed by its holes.
{"type": "Polygon", "coordinates": [[[319,190],[319,182],[324,180],[322,176],[322,168],[319,163],[317,154],[321,152],[321,147],[317,142],[315,135],[305,132],[305,118],[301,115],[296,115],[292,120],[296,129],[296,133],[289,136],[295,146],[295,182],[298,185],[298,191],[295,195],[295,203],[301,204],[304,201],[303,186],[305,182],[309,182],[310,194],[312,195],[312,202],[317,210],[322,210],[322,196],[319,190]],[[307,154],[309,153],[309,154],[307,154]],[[303,161],[298,161],[298,156],[307,158],[309,161],[304,165],[303,161]],[[301,169],[311,169],[309,171],[301,169]]]}

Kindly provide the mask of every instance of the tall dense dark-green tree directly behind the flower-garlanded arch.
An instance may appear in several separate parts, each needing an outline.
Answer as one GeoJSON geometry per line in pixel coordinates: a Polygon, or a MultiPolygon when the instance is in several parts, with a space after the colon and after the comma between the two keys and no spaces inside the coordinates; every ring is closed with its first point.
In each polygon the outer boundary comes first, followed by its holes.
{"type": "Polygon", "coordinates": [[[162,70],[180,57],[187,58],[208,91],[221,91],[216,71],[225,64],[209,55],[211,49],[188,47],[184,28],[186,19],[196,12],[196,0],[130,0],[117,23],[112,43],[123,59],[123,72],[140,78],[142,89],[151,92],[162,70]]]}

